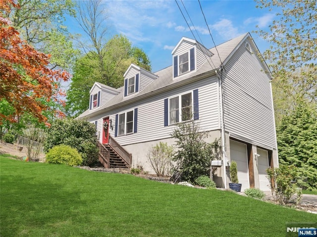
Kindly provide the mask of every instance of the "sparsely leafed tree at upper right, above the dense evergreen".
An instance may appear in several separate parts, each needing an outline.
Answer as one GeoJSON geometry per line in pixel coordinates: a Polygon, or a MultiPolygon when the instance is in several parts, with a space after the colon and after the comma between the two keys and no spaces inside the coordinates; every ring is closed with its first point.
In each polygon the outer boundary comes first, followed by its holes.
{"type": "Polygon", "coordinates": [[[269,60],[276,124],[288,110],[295,109],[299,98],[317,101],[317,1],[256,0],[258,7],[276,11],[269,32],[257,31],[270,47],[264,52],[269,60]]]}

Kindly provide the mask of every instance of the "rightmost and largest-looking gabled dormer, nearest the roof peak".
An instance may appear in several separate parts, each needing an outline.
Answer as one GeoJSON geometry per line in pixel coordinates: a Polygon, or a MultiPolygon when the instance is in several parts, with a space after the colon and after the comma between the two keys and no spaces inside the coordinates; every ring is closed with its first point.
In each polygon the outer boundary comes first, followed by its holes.
{"type": "Polygon", "coordinates": [[[197,71],[213,53],[205,46],[183,37],[172,51],[173,78],[197,71]]]}

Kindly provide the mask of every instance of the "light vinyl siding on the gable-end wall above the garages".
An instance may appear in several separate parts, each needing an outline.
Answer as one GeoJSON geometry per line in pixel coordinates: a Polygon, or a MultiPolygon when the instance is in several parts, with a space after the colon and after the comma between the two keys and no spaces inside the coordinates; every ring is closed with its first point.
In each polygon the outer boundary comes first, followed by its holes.
{"type": "Polygon", "coordinates": [[[226,63],[223,78],[226,131],[275,148],[270,81],[260,59],[243,43],[226,63]]]}

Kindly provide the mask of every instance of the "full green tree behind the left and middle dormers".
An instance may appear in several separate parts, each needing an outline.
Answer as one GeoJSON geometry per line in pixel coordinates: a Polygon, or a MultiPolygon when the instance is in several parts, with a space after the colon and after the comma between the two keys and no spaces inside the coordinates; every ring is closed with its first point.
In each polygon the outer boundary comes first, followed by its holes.
{"type": "Polygon", "coordinates": [[[113,88],[123,86],[123,74],[131,63],[151,70],[150,61],[145,52],[132,47],[131,42],[123,35],[115,35],[102,49],[103,67],[101,69],[99,54],[90,51],[79,58],[73,69],[73,78],[67,91],[67,112],[77,116],[89,106],[89,92],[95,82],[113,88]]]}

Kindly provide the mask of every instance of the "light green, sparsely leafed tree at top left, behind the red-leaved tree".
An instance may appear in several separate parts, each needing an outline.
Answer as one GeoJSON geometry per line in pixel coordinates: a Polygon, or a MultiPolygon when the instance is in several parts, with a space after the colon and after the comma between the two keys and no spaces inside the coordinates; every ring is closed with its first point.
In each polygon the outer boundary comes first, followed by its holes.
{"type": "Polygon", "coordinates": [[[78,50],[63,25],[64,15],[75,16],[72,0],[17,0],[7,17],[22,38],[43,53],[50,53],[50,67],[69,70],[78,50]]]}

